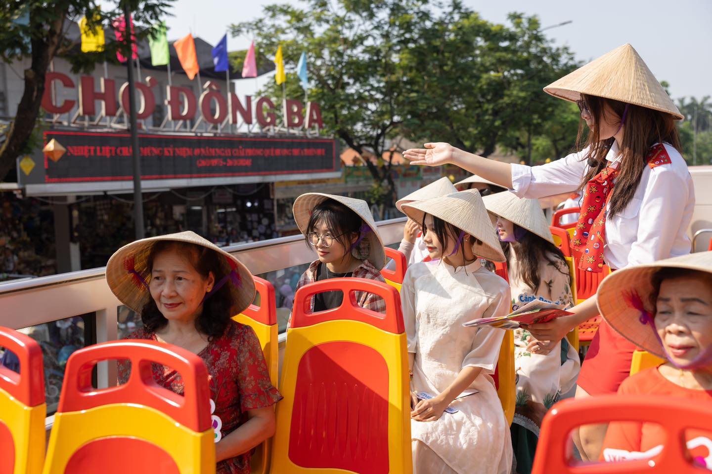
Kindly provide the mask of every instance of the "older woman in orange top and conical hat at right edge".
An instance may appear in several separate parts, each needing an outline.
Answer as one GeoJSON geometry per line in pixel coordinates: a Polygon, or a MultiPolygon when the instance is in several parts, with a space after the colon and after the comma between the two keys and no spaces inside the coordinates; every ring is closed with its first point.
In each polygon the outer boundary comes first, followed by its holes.
{"type": "MultiPolygon", "coordinates": [[[[668,360],[624,380],[619,394],[712,406],[712,252],[617,271],[601,284],[598,305],[614,330],[668,360]]],[[[601,458],[650,458],[664,440],[656,423],[613,422],[601,458]]],[[[688,430],[686,443],[693,463],[712,470],[712,431],[688,430]]]]}

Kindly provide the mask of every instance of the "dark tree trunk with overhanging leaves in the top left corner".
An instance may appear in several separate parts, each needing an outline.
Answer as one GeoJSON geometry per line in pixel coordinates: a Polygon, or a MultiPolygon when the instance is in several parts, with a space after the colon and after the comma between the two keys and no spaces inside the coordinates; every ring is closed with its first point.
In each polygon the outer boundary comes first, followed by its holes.
{"type": "Polygon", "coordinates": [[[24,90],[16,116],[2,133],[5,140],[0,147],[0,179],[12,168],[15,158],[27,153],[33,146],[32,132],[40,114],[44,94],[45,76],[53,58],[61,56],[68,60],[75,72],[93,70],[96,63],[116,63],[116,52],[129,55],[125,43],[112,41],[110,21],[123,14],[125,2],[129,2],[137,41],[147,38],[157,28],[160,18],[173,0],[118,0],[99,2],[95,0],[5,0],[0,2],[0,58],[11,63],[21,58],[30,58],[30,66],[24,70],[24,90]],[[105,50],[96,53],[81,53],[79,38],[68,36],[70,22],[78,22],[82,16],[88,19],[88,27],[98,25],[105,29],[105,50]]]}

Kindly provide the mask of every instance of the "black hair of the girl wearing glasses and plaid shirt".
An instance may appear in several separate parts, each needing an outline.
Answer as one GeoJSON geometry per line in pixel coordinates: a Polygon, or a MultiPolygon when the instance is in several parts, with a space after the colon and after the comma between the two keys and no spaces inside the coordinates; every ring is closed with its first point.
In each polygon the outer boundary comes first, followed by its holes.
{"type": "MultiPolygon", "coordinates": [[[[361,226],[363,225],[363,220],[356,212],[333,199],[327,199],[318,205],[315,205],[312,210],[312,214],[309,217],[309,222],[307,223],[307,230],[304,232],[304,241],[307,243],[309,248],[312,248],[313,246],[311,242],[309,242],[308,236],[310,232],[314,232],[314,229],[319,222],[323,222],[334,237],[339,236],[336,237],[335,240],[342,244],[342,246],[346,249],[344,259],[347,255],[353,253],[349,252],[351,249],[352,238],[354,235],[359,235],[361,226]]],[[[368,240],[363,239],[361,242],[368,242],[368,240]]],[[[362,245],[359,247],[362,247],[362,245]]],[[[363,260],[360,256],[357,257],[354,255],[354,257],[363,260]]]]}

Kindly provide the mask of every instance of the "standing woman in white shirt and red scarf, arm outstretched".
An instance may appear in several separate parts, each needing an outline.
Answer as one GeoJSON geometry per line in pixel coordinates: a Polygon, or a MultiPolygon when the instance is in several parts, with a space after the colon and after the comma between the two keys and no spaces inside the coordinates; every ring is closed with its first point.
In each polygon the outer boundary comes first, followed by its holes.
{"type": "MultiPolygon", "coordinates": [[[[577,153],[533,167],[490,161],[445,143],[426,144],[404,156],[414,164],[454,163],[522,198],[582,190],[572,244],[580,252],[578,266],[586,271],[689,253],[686,232],[694,192],[674,124],[683,116],[636,50],[622,45],[544,90],[578,104],[590,131],[577,153]]],[[[539,350],[551,350],[570,330],[596,316],[594,298],[572,312],[530,328],[539,350]]],[[[602,324],[582,367],[577,397],[615,392],[627,377],[633,350],[602,324]]],[[[602,429],[585,427],[580,433],[582,456],[597,459],[602,429]]]]}

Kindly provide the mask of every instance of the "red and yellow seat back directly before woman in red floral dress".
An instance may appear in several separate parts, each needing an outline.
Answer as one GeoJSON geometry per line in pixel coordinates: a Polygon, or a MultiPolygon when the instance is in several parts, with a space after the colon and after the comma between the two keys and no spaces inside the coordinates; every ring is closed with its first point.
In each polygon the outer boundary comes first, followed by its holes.
{"type": "Polygon", "coordinates": [[[44,474],[212,474],[208,372],[197,355],[148,340],[121,340],[74,352],[50,434],[44,474]],[[102,360],[129,360],[126,384],[92,387],[102,360]],[[177,370],[184,395],[159,387],[152,362],[177,370]]]}

